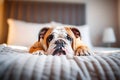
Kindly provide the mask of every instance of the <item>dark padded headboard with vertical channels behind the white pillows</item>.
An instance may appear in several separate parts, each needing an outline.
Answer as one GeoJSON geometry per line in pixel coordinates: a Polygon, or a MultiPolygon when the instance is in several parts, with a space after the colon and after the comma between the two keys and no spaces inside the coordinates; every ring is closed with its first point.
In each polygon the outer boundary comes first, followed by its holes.
{"type": "Polygon", "coordinates": [[[8,18],[35,23],[56,21],[63,24],[84,25],[85,11],[84,3],[5,0],[3,40],[4,42],[7,40],[8,18]]]}

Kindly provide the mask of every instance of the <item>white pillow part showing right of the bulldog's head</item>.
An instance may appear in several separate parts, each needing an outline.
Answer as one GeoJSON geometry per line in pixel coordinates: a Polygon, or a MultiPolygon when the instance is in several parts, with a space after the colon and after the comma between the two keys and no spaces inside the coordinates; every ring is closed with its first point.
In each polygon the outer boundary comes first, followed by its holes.
{"type": "Polygon", "coordinates": [[[89,31],[89,27],[88,25],[83,25],[83,26],[77,26],[77,28],[79,29],[81,36],[82,36],[82,40],[83,42],[88,45],[88,47],[90,49],[93,48],[91,39],[90,39],[90,31],[89,31]]]}

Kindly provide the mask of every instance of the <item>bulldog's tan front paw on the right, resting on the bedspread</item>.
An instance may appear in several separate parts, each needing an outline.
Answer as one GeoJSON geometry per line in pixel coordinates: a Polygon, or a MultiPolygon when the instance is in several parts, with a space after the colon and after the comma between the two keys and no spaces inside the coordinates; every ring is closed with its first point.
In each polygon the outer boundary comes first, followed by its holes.
{"type": "Polygon", "coordinates": [[[75,51],[75,56],[88,56],[92,55],[93,53],[90,52],[87,46],[80,46],[75,51]]]}

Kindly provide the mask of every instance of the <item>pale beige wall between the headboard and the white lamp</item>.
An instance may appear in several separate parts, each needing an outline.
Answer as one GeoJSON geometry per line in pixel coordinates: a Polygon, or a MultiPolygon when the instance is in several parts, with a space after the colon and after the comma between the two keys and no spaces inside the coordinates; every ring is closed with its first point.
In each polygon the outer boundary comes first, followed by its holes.
{"type": "Polygon", "coordinates": [[[86,4],[86,20],[90,25],[92,43],[101,45],[104,29],[110,26],[117,27],[117,2],[115,0],[88,0],[86,4]]]}

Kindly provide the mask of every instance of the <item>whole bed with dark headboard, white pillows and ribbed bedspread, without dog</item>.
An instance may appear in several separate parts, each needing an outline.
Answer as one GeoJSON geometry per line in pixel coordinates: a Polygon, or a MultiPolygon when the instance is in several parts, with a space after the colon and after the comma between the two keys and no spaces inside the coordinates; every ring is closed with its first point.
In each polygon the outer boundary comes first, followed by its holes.
{"type": "Polygon", "coordinates": [[[5,8],[8,33],[7,44],[0,45],[0,80],[120,80],[119,51],[105,54],[99,49],[92,56],[28,53],[39,30],[53,25],[76,26],[92,50],[85,4],[6,0],[5,8]]]}

